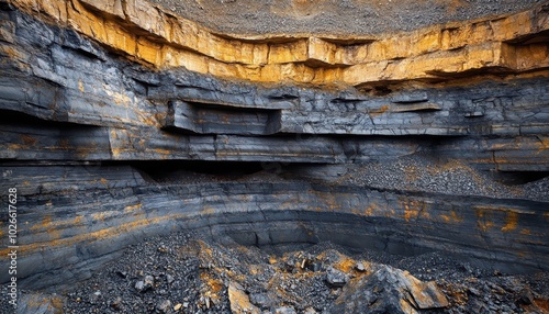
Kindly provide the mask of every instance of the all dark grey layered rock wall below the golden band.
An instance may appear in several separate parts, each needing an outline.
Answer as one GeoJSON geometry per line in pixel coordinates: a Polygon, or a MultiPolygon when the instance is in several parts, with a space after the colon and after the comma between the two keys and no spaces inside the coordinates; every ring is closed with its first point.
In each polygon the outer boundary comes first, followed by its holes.
{"type": "MultiPolygon", "coordinates": [[[[21,288],[86,279],[127,245],[186,228],[246,245],[332,240],[549,270],[547,191],[502,199],[345,179],[406,156],[542,178],[547,77],[370,92],[223,81],[149,70],[2,3],[0,46],[19,55],[0,61],[0,186],[2,200],[18,189],[21,288]],[[171,176],[191,160],[247,176],[171,176]]],[[[3,247],[7,221],[2,211],[3,247]]]]}

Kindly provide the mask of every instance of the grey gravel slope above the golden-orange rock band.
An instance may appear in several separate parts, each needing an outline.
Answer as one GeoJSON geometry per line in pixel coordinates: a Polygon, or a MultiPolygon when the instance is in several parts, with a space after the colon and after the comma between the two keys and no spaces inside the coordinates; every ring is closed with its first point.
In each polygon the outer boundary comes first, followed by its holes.
{"type": "Polygon", "coordinates": [[[150,0],[222,33],[374,35],[519,12],[542,0],[150,0]]]}

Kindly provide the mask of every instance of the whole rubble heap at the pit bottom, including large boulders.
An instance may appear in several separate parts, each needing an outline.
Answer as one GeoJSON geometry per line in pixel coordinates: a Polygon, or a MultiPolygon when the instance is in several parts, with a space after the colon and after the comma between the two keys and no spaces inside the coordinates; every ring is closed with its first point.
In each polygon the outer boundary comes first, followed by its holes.
{"type": "MultiPolygon", "coordinates": [[[[494,274],[492,269],[440,254],[417,257],[382,251],[350,254],[330,243],[305,249],[277,249],[274,257],[270,250],[220,244],[201,234],[152,238],[132,246],[90,281],[74,287],[59,304],[64,313],[75,314],[109,311],[313,314],[363,313],[363,309],[368,313],[511,314],[536,313],[542,309],[539,306],[544,300],[549,300],[548,273],[494,274]],[[175,255],[167,256],[150,245],[159,239],[175,255]],[[301,268],[305,256],[323,265],[323,270],[301,268]],[[289,270],[289,260],[296,261],[299,267],[289,270]],[[210,268],[200,268],[201,263],[210,263],[210,268]],[[227,269],[226,265],[232,267],[227,269]],[[150,270],[155,266],[156,270],[150,270]],[[127,278],[115,274],[121,267],[127,271],[127,278]],[[143,273],[143,269],[148,271],[143,273]],[[175,279],[172,283],[161,279],[168,273],[175,279]],[[147,276],[160,278],[154,281],[155,289],[136,293],[135,288],[128,287],[128,282],[137,279],[145,282],[147,276]],[[97,302],[86,298],[96,294],[100,295],[97,302]]],[[[150,284],[150,278],[147,282],[150,284]]]]}

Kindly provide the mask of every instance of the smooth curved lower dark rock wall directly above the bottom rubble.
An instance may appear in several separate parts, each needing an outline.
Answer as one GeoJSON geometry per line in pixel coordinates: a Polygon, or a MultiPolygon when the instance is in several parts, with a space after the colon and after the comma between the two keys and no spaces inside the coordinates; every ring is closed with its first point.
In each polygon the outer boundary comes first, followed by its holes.
{"type": "Polygon", "coordinates": [[[126,245],[182,228],[245,245],[332,240],[400,255],[445,250],[514,272],[547,270],[547,202],[260,176],[147,181],[127,166],[1,170],[2,188],[18,187],[18,273],[26,288],[87,278],[126,245]]]}

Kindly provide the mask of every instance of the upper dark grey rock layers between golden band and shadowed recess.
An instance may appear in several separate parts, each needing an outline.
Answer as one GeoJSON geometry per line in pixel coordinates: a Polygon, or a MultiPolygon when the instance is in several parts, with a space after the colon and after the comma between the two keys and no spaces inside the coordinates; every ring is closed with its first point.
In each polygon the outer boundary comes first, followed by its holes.
{"type": "Polygon", "coordinates": [[[437,150],[483,169],[547,170],[547,145],[539,141],[549,125],[546,77],[485,80],[467,89],[425,85],[386,96],[256,86],[187,70],[152,71],[109,56],[70,29],[55,32],[11,14],[20,26],[14,44],[0,43],[11,52],[2,64],[0,109],[79,125],[8,117],[0,143],[5,158],[341,162],[399,157],[438,143],[349,135],[467,135],[474,137],[453,138],[451,148],[437,150]],[[45,133],[31,135],[37,123],[45,133]]]}

